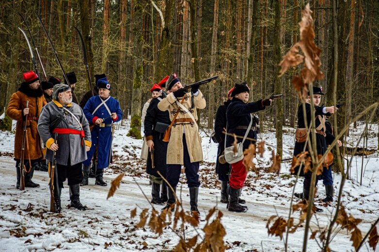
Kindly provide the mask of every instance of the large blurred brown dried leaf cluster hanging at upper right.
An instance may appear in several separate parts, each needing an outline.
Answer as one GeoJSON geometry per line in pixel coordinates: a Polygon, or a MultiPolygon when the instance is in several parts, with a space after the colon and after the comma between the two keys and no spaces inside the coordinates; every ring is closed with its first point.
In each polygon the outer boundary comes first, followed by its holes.
{"type": "Polygon", "coordinates": [[[319,49],[314,43],[314,30],[312,11],[309,3],[301,11],[300,40],[284,55],[280,62],[280,75],[282,76],[290,67],[296,67],[303,64],[300,75],[295,76],[291,83],[297,91],[307,92],[307,84],[313,83],[315,80],[324,79],[324,73],[321,71],[321,60],[319,49]],[[300,50],[304,55],[300,54],[300,50]]]}

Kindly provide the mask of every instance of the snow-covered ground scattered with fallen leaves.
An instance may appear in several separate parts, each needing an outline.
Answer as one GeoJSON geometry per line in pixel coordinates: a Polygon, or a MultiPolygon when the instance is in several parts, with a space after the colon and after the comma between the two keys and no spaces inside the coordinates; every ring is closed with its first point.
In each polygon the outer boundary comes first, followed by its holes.
{"type": "MultiPolygon", "coordinates": [[[[78,211],[69,209],[67,187],[62,191],[61,214],[49,212],[49,178],[47,172],[35,171],[33,181],[39,183],[39,188],[27,188],[21,192],[16,190],[16,168],[13,160],[14,134],[0,132],[0,251],[171,251],[178,243],[178,236],[169,229],[162,235],[155,235],[148,227],[137,229],[139,217],[130,218],[131,210],[137,207],[137,216],[143,208],[150,208],[150,204],[136,185],[141,186],[150,199],[148,175],[145,173],[145,162],[139,159],[142,140],[127,137],[129,121],[124,121],[115,130],[114,159],[115,163],[105,172],[108,186],[90,185],[81,187],[81,201],[90,209],[78,211]],[[110,182],[119,173],[125,172],[120,188],[115,196],[106,200],[110,182]],[[136,182],[135,182],[135,181],[136,182]]],[[[364,125],[359,124],[352,129],[348,144],[357,141],[364,125]]],[[[369,128],[369,149],[377,149],[378,125],[369,128]]],[[[294,147],[294,129],[285,128],[283,139],[283,159],[292,156],[294,147]]],[[[284,251],[283,241],[279,237],[267,235],[266,222],[272,215],[288,217],[293,186],[296,178],[289,175],[290,161],[282,164],[280,175],[265,172],[270,166],[271,148],[275,149],[276,139],[274,132],[261,134],[259,138],[268,145],[263,158],[255,160],[261,171],[249,172],[246,186],[241,198],[247,201],[247,213],[233,213],[226,210],[226,204],[219,201],[219,182],[214,173],[214,162],[217,154],[217,145],[209,143],[210,132],[201,130],[204,162],[200,167],[201,187],[199,190],[198,205],[201,219],[208,211],[217,205],[223,212],[222,224],[226,229],[224,240],[230,246],[228,251],[284,251]]],[[[363,146],[361,143],[360,146],[363,146]]],[[[156,150],[158,151],[158,150],[156,150]]],[[[348,157],[350,158],[350,157],[348,157]]],[[[355,156],[352,162],[351,180],[347,180],[342,197],[342,204],[346,212],[355,218],[362,218],[359,224],[363,236],[369,230],[371,223],[379,215],[379,154],[364,157],[355,156]],[[361,167],[364,174],[361,182],[361,167]]],[[[339,174],[333,174],[334,187],[337,190],[341,182],[339,174]]],[[[302,179],[298,179],[296,191],[300,191],[302,179]]],[[[181,198],[183,205],[189,210],[189,192],[185,185],[185,176],[181,177],[183,185],[181,198]]],[[[324,209],[312,218],[311,228],[327,227],[334,204],[324,204],[325,189],[319,183],[315,204],[324,209]]],[[[161,206],[157,206],[159,209],[161,206]]],[[[294,217],[299,214],[296,212],[294,217]]],[[[200,226],[202,225],[200,222],[200,226]]],[[[176,230],[176,232],[182,230],[176,230]]],[[[301,251],[304,229],[300,227],[294,234],[290,234],[289,251],[301,251]]],[[[201,233],[201,232],[200,232],[201,233]]],[[[193,227],[188,226],[186,237],[196,235],[193,227]]],[[[341,231],[331,243],[332,251],[353,251],[350,235],[341,231]]],[[[315,240],[309,240],[308,251],[320,251],[315,240]]],[[[361,251],[372,251],[364,246],[361,251]]]]}

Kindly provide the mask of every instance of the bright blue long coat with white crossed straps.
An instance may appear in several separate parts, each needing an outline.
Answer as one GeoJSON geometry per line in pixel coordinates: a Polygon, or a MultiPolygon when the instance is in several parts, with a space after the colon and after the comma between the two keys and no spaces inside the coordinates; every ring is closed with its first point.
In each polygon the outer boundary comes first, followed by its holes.
{"type": "MultiPolygon", "coordinates": [[[[89,122],[94,123],[97,118],[107,118],[109,117],[108,110],[104,105],[101,105],[95,114],[92,115],[92,112],[101,104],[100,96],[91,97],[83,108],[85,117],[89,122]],[[95,119],[94,119],[95,118],[95,119]]],[[[106,99],[103,99],[106,100],[106,99]]],[[[118,122],[122,119],[122,111],[120,108],[120,103],[113,97],[105,102],[107,104],[111,113],[116,113],[117,118],[113,120],[111,117],[103,121],[105,124],[112,124],[118,122]]],[[[89,151],[87,151],[87,160],[83,162],[83,165],[89,166],[91,164],[92,156],[95,152],[95,149],[98,148],[98,169],[107,168],[109,166],[109,154],[111,151],[112,144],[112,127],[102,127],[98,125],[94,127],[91,132],[92,146],[89,151]]]]}

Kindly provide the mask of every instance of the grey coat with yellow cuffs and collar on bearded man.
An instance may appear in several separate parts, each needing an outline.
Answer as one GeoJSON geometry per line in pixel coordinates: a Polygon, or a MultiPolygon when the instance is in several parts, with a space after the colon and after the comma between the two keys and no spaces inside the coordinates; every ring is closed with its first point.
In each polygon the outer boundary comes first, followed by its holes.
{"type": "MultiPolygon", "coordinates": [[[[59,149],[56,151],[55,157],[57,164],[64,166],[67,165],[68,155],[70,155],[71,165],[75,165],[86,160],[87,153],[85,151],[85,146],[91,147],[91,132],[82,108],[78,104],[71,102],[66,106],[66,109],[79,119],[85,136],[84,143],[82,143],[80,134],[58,134],[57,144],[59,149]]],[[[70,113],[64,112],[61,103],[55,100],[49,102],[43,108],[38,120],[38,132],[44,145],[48,147],[45,158],[49,161],[52,161],[53,159],[53,151],[49,150],[49,147],[54,142],[53,134],[50,133],[50,125],[59,117],[63,117],[63,120],[57,125],[56,128],[67,128],[79,131],[82,130],[79,122],[70,113]]],[[[51,129],[51,131],[52,130],[53,129],[51,129]]]]}

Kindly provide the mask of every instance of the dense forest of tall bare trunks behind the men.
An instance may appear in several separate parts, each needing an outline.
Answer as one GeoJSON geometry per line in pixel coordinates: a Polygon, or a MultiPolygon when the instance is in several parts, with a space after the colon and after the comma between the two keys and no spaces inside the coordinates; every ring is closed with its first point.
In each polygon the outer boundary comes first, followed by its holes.
{"type": "MultiPolygon", "coordinates": [[[[176,72],[183,84],[218,75],[201,86],[207,107],[202,126],[213,128],[217,107],[227,91],[247,81],[250,99],[282,93],[281,100],[260,113],[261,126],[275,129],[278,154],[282,126],[296,125],[300,104],[291,88],[293,67],[278,78],[282,56],[297,42],[304,0],[6,0],[0,3],[0,108],[22,82],[22,73],[34,70],[25,38],[17,27],[27,20],[46,74],[63,80],[53,50],[34,12],[42,18],[66,72],[75,71],[79,99],[89,90],[78,27],[84,37],[89,71],[106,73],[124,118],[132,116],[130,135],[140,138],[141,108],[149,89],[176,72]]],[[[333,87],[343,106],[337,113],[343,128],[349,118],[379,99],[379,2],[376,0],[311,0],[315,43],[322,50],[321,69],[332,104],[333,87]],[[333,22],[336,30],[333,29],[333,22]],[[336,31],[336,32],[335,32],[336,31]],[[334,47],[338,49],[337,61],[334,47]],[[337,71],[337,82],[333,79],[337,71]]],[[[29,36],[29,35],[28,35],[29,36]]],[[[31,38],[29,37],[29,40],[31,38]]],[[[38,66],[42,73],[41,67],[38,66]]],[[[40,74],[42,75],[42,74],[40,74]]],[[[43,76],[40,76],[44,79],[43,76]]],[[[93,84],[94,85],[94,84],[93,84]]],[[[335,119],[334,118],[334,119],[335,119]]],[[[368,115],[366,116],[368,119],[368,115]]],[[[379,120],[378,115],[375,120],[379,120]]],[[[264,129],[263,129],[264,130],[264,129]]]]}

